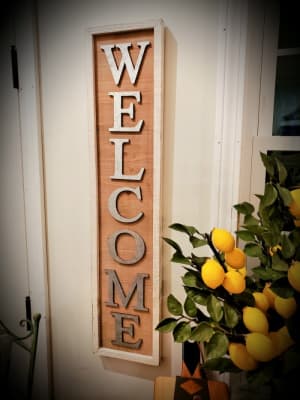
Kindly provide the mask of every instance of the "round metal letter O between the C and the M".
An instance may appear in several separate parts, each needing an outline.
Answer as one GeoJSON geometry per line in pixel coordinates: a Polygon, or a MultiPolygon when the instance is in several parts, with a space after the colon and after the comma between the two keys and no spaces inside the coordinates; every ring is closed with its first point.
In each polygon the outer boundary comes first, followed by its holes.
{"type": "Polygon", "coordinates": [[[144,239],[138,233],[136,233],[134,231],[130,231],[128,229],[116,231],[108,237],[107,242],[108,242],[108,250],[109,250],[111,257],[115,261],[117,261],[119,264],[124,264],[124,265],[136,264],[145,255],[146,247],[145,247],[144,239]],[[135,256],[132,257],[130,260],[124,260],[124,258],[119,257],[119,255],[117,253],[117,240],[120,235],[129,235],[129,236],[132,236],[133,239],[135,240],[136,253],[135,253],[135,256]]]}

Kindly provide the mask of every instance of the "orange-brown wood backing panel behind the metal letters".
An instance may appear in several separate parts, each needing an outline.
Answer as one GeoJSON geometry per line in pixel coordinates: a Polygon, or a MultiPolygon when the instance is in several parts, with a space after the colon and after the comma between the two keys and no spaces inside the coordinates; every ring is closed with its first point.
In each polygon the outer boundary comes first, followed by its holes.
{"type": "MultiPolygon", "coordinates": [[[[94,36],[96,131],[98,151],[98,199],[99,199],[99,293],[100,347],[150,356],[153,351],[153,109],[154,109],[154,32],[153,29],[120,33],[99,34],[94,36]],[[134,84],[129,79],[126,68],[116,84],[108,58],[101,46],[131,43],[129,54],[133,66],[136,65],[140,47],[139,42],[149,41],[143,61],[134,84]],[[124,96],[122,109],[133,109],[134,115],[122,112],[121,126],[134,127],[143,120],[139,132],[110,131],[114,127],[114,96],[112,92],[133,92],[124,96]],[[140,102],[136,98],[139,93],[140,102]],[[122,173],[133,176],[144,168],[140,180],[113,179],[115,175],[116,147],[111,139],[126,139],[122,145],[122,173]],[[141,192],[141,200],[136,192],[123,191],[119,194],[116,205],[119,215],[125,219],[143,213],[136,222],[116,220],[108,204],[111,194],[120,188],[131,188],[141,192]],[[145,243],[145,254],[134,264],[123,264],[113,259],[109,251],[108,238],[120,230],[136,232],[145,243]],[[112,275],[114,274],[114,275],[112,275]],[[144,274],[143,289],[134,282],[138,274],[144,274]],[[120,286],[112,276],[117,277],[120,286]],[[128,303],[122,301],[120,287],[128,303]],[[140,292],[139,292],[140,291],[140,292]],[[139,292],[139,293],[138,293],[139,292]],[[144,310],[138,306],[138,296],[143,297],[144,310]],[[118,316],[122,316],[121,320],[118,316]]],[[[112,50],[116,66],[120,66],[122,54],[120,48],[112,50]]],[[[119,236],[116,242],[117,255],[124,260],[131,260],[137,253],[136,241],[128,234],[119,236]]],[[[140,299],[141,302],[141,299],[140,299]]]]}

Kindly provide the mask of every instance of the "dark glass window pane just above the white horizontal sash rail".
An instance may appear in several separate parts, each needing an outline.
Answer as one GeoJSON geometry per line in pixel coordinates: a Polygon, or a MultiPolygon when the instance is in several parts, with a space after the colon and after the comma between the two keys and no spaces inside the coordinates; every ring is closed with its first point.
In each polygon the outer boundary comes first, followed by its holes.
{"type": "Polygon", "coordinates": [[[300,55],[278,57],[273,135],[300,136],[300,55]]]}

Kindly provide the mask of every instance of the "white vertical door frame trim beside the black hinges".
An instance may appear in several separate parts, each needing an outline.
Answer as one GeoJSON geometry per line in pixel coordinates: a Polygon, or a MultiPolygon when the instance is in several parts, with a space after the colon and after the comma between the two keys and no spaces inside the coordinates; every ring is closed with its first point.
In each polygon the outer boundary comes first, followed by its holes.
{"type": "Polygon", "coordinates": [[[26,252],[32,313],[41,313],[34,398],[50,398],[50,341],[37,33],[31,1],[16,10],[26,252]]]}

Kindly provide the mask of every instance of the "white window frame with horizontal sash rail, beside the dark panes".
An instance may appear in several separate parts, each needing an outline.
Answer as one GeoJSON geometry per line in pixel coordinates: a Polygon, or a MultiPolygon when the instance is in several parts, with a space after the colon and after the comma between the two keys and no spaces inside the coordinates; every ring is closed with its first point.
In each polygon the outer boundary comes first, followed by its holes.
{"type": "Polygon", "coordinates": [[[251,40],[254,45],[247,50],[249,70],[245,79],[249,86],[246,87],[244,98],[239,201],[250,201],[257,205],[255,194],[263,193],[265,183],[265,168],[260,152],[298,151],[300,139],[297,136],[272,136],[277,58],[291,53],[290,49],[285,51],[277,48],[279,2],[254,4],[252,12],[248,19],[248,46],[251,40]]]}

